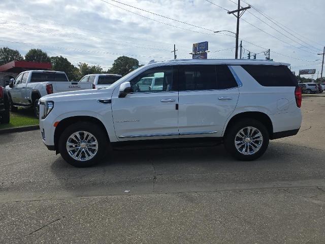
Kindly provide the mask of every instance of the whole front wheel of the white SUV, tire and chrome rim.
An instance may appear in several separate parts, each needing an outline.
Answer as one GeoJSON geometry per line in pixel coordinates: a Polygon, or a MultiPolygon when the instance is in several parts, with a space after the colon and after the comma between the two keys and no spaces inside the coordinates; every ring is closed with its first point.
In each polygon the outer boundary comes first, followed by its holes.
{"type": "Polygon", "coordinates": [[[62,158],[75,167],[89,167],[100,162],[108,148],[106,133],[98,125],[81,122],[69,126],[59,138],[62,158]]]}

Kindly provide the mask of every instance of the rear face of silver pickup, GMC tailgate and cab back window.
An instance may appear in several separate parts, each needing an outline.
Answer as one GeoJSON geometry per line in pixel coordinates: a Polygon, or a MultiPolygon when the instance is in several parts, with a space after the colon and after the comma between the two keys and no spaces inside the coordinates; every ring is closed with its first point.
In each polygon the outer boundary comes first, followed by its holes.
{"type": "Polygon", "coordinates": [[[53,93],[71,92],[72,90],[92,89],[89,82],[71,82],[64,73],[54,73],[53,93]]]}

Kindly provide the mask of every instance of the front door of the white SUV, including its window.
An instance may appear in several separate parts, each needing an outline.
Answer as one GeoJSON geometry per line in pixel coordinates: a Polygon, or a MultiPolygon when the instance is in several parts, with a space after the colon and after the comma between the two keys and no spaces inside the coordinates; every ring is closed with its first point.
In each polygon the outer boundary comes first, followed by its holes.
{"type": "MultiPolygon", "coordinates": [[[[151,68],[135,77],[132,93],[112,97],[115,133],[120,141],[178,138],[178,91],[173,66],[151,68]],[[163,85],[145,85],[155,77],[163,85]]],[[[118,89],[118,88],[117,88],[118,89]]]]}

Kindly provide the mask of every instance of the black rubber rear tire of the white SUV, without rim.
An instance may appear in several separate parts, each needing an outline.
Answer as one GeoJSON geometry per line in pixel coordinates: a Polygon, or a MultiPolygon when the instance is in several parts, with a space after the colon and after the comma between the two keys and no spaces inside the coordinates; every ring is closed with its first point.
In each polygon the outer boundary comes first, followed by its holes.
{"type": "Polygon", "coordinates": [[[235,158],[241,161],[251,161],[258,159],[261,157],[266,149],[268,148],[269,145],[269,140],[270,140],[270,135],[267,130],[267,128],[258,120],[252,119],[252,118],[244,118],[240,121],[236,121],[236,123],[232,123],[230,125],[230,128],[227,129],[225,137],[224,137],[224,146],[226,150],[235,158]],[[263,136],[262,143],[259,147],[259,149],[256,151],[256,153],[251,154],[251,155],[245,155],[239,152],[237,150],[236,145],[235,145],[235,138],[237,133],[242,130],[243,128],[246,127],[254,127],[259,132],[261,132],[263,136]]]}

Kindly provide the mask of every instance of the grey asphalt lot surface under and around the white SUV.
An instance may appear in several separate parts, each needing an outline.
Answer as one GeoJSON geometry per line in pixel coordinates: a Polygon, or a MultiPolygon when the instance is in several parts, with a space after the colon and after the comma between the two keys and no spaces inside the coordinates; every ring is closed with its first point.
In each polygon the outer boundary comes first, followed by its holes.
{"type": "Polygon", "coordinates": [[[325,96],[302,111],[253,162],[220,145],[74,168],[39,131],[0,135],[0,243],[324,243],[325,96]]]}

